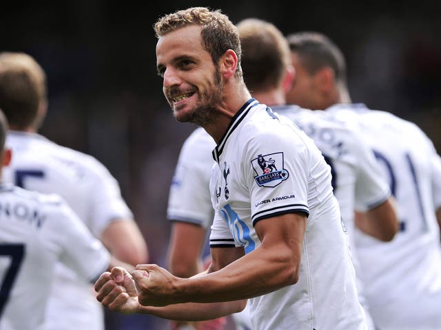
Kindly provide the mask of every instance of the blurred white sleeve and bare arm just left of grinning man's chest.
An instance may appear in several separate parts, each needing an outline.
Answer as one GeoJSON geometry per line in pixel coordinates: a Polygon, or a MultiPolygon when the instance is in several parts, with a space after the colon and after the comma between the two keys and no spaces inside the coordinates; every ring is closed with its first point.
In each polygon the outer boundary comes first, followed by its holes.
{"type": "MultiPolygon", "coordinates": [[[[203,271],[201,256],[214,218],[209,191],[214,148],[213,137],[198,128],[185,140],[176,164],[167,208],[167,218],[173,221],[168,267],[176,276],[189,277],[203,271]]],[[[236,330],[252,329],[248,308],[233,318],[236,330]]]]}

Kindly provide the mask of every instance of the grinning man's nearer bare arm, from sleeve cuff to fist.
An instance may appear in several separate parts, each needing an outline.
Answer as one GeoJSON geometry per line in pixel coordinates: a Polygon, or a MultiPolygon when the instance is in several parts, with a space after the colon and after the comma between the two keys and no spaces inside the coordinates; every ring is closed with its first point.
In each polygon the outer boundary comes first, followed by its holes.
{"type": "Polygon", "coordinates": [[[153,306],[213,303],[261,296],[292,285],[298,281],[305,225],[303,214],[263,219],[255,226],[261,241],[256,250],[221,269],[222,261],[214,253],[209,273],[202,276],[176,278],[157,265],[138,265],[133,276],[139,301],[153,306]]]}

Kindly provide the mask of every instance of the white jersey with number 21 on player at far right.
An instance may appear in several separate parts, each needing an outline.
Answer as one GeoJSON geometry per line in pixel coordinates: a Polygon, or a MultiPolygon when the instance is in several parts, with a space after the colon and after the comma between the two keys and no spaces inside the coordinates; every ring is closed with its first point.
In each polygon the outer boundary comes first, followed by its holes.
{"type": "Polygon", "coordinates": [[[360,131],[397,200],[400,232],[393,241],[380,243],[356,231],[360,276],[376,324],[441,329],[440,231],[433,197],[440,168],[433,166],[439,161],[433,144],[416,124],[364,104],[337,104],[327,111],[360,131]]]}

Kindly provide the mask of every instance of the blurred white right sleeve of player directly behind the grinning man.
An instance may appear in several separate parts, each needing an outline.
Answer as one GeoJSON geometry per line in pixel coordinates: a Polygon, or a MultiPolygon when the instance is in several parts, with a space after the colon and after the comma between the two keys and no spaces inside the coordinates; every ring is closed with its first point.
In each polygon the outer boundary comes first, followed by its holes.
{"type": "Polygon", "coordinates": [[[379,175],[380,168],[373,151],[356,135],[352,142],[357,160],[355,208],[359,212],[366,212],[386,201],[391,196],[391,190],[379,175]]]}

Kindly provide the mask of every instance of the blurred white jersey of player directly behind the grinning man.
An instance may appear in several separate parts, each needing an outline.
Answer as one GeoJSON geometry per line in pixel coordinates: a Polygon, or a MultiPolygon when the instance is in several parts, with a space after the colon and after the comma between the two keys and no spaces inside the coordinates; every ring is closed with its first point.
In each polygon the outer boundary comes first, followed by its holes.
{"type": "MultiPolygon", "coordinates": [[[[343,222],[349,233],[351,255],[356,272],[360,272],[357,251],[354,249],[354,212],[365,212],[386,201],[391,191],[387,182],[378,175],[379,165],[371,148],[362,137],[344,122],[335,120],[325,111],[311,111],[296,105],[272,107],[274,111],[300,127],[322,152],[331,166],[334,195],[340,206],[343,222]]],[[[369,304],[365,300],[363,285],[357,281],[358,297],[369,318],[369,304]]],[[[373,327],[373,324],[371,324],[373,327]]]]}

